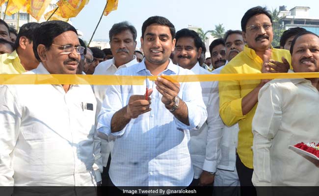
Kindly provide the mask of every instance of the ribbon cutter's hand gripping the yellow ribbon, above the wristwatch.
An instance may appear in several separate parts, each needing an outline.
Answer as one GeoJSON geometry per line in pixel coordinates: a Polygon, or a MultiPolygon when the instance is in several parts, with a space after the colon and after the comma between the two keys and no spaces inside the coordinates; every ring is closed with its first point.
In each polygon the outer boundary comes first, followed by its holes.
{"type": "Polygon", "coordinates": [[[161,101],[165,104],[166,108],[170,109],[174,105],[174,98],[180,92],[180,83],[171,82],[163,77],[158,77],[155,81],[156,89],[162,95],[161,101]]]}

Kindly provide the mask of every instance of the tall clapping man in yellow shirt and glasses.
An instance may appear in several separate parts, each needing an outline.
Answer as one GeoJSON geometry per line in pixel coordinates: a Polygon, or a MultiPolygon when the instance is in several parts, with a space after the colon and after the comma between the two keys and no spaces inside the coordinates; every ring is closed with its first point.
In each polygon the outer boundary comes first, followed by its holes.
{"type": "MultiPolygon", "coordinates": [[[[274,49],[272,19],[266,8],[249,9],[241,19],[247,45],[221,73],[286,73],[291,56],[288,50],[274,49]]],[[[229,80],[219,82],[220,117],[231,126],[239,123],[236,168],[240,186],[253,186],[253,134],[251,123],[258,102],[258,92],[269,80],[229,80]]],[[[241,189],[241,195],[256,195],[254,189],[241,189]],[[249,193],[245,192],[249,191],[249,193]],[[250,192],[251,191],[251,192],[250,192]]]]}

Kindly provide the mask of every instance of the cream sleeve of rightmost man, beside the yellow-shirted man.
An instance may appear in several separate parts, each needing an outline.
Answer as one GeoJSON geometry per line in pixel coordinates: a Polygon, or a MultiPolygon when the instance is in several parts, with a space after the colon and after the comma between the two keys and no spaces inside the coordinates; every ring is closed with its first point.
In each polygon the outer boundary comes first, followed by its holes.
{"type": "Polygon", "coordinates": [[[254,186],[271,186],[270,147],[281,124],[281,100],[274,84],[266,84],[259,92],[258,106],[252,122],[254,134],[254,186]]]}

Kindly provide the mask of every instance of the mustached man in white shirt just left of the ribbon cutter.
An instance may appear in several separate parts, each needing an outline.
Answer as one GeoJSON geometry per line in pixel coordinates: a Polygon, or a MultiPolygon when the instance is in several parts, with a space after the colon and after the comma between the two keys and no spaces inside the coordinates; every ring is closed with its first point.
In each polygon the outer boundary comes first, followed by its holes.
{"type": "MultiPolygon", "coordinates": [[[[109,44],[113,54],[113,58],[101,62],[94,71],[94,75],[113,75],[117,70],[130,67],[137,62],[136,56],[133,54],[136,47],[137,32],[133,25],[127,21],[114,24],[108,32],[109,44]]],[[[104,85],[94,85],[93,90],[97,100],[97,112],[99,115],[103,99],[106,96],[106,87],[104,85]]],[[[113,148],[112,138],[100,135],[102,140],[101,153],[103,156],[103,180],[106,180],[108,176],[108,170],[106,168],[108,163],[109,154],[113,148]]],[[[104,181],[102,181],[104,185],[104,181]]]]}

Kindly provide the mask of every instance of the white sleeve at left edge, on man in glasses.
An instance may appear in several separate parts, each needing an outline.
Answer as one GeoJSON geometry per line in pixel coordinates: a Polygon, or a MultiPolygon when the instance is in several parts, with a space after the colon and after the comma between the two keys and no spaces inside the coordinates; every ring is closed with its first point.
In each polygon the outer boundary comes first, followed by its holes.
{"type": "Polygon", "coordinates": [[[22,113],[7,86],[0,86],[0,95],[0,186],[14,186],[10,154],[18,140],[22,113]]]}

